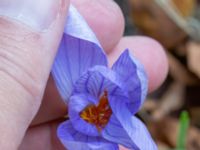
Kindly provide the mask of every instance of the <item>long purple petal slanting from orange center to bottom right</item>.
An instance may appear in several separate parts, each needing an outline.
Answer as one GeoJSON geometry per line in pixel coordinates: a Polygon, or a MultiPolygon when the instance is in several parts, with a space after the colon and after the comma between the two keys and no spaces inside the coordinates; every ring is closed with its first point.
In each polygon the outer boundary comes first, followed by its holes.
{"type": "Polygon", "coordinates": [[[109,103],[113,114],[120,125],[126,131],[132,142],[137,145],[139,150],[157,150],[157,146],[145,125],[139,119],[132,116],[124,99],[126,97],[109,96],[109,103]]]}

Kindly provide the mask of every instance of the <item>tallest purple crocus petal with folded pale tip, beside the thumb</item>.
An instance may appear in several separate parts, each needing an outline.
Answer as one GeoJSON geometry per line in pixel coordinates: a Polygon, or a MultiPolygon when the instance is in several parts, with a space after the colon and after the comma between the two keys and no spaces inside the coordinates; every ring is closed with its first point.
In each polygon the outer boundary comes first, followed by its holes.
{"type": "Polygon", "coordinates": [[[71,5],[63,38],[52,68],[56,86],[68,101],[74,83],[88,68],[107,65],[107,58],[94,33],[71,5]]]}

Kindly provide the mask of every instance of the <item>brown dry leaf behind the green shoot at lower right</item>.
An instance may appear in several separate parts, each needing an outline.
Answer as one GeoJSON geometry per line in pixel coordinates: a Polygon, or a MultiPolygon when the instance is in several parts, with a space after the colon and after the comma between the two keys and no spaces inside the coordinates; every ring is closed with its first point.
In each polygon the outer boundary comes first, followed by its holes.
{"type": "MultiPolygon", "coordinates": [[[[149,129],[156,141],[167,144],[171,148],[176,147],[179,132],[178,119],[166,116],[149,124],[149,129]]],[[[190,126],[188,130],[187,150],[200,150],[200,130],[194,126],[190,126]]]]}

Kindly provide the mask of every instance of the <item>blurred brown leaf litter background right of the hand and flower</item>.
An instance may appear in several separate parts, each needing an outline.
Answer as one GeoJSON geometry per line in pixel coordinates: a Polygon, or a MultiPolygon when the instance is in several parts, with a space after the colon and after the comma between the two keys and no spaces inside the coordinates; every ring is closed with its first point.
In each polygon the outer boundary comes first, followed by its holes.
{"type": "Polygon", "coordinates": [[[169,75],[149,95],[139,116],[159,150],[175,149],[179,116],[187,110],[187,150],[200,150],[200,1],[116,0],[126,18],[126,35],[147,35],[164,46],[169,75]]]}

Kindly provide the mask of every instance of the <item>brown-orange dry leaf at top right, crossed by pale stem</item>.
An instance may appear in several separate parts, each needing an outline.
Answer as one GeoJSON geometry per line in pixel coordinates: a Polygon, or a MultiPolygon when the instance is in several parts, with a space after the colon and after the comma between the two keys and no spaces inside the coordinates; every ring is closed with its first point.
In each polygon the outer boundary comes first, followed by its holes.
{"type": "MultiPolygon", "coordinates": [[[[154,0],[129,0],[135,25],[145,34],[173,48],[187,36],[154,2],[154,0]]],[[[173,0],[183,17],[192,15],[196,0],[173,0]]]]}

